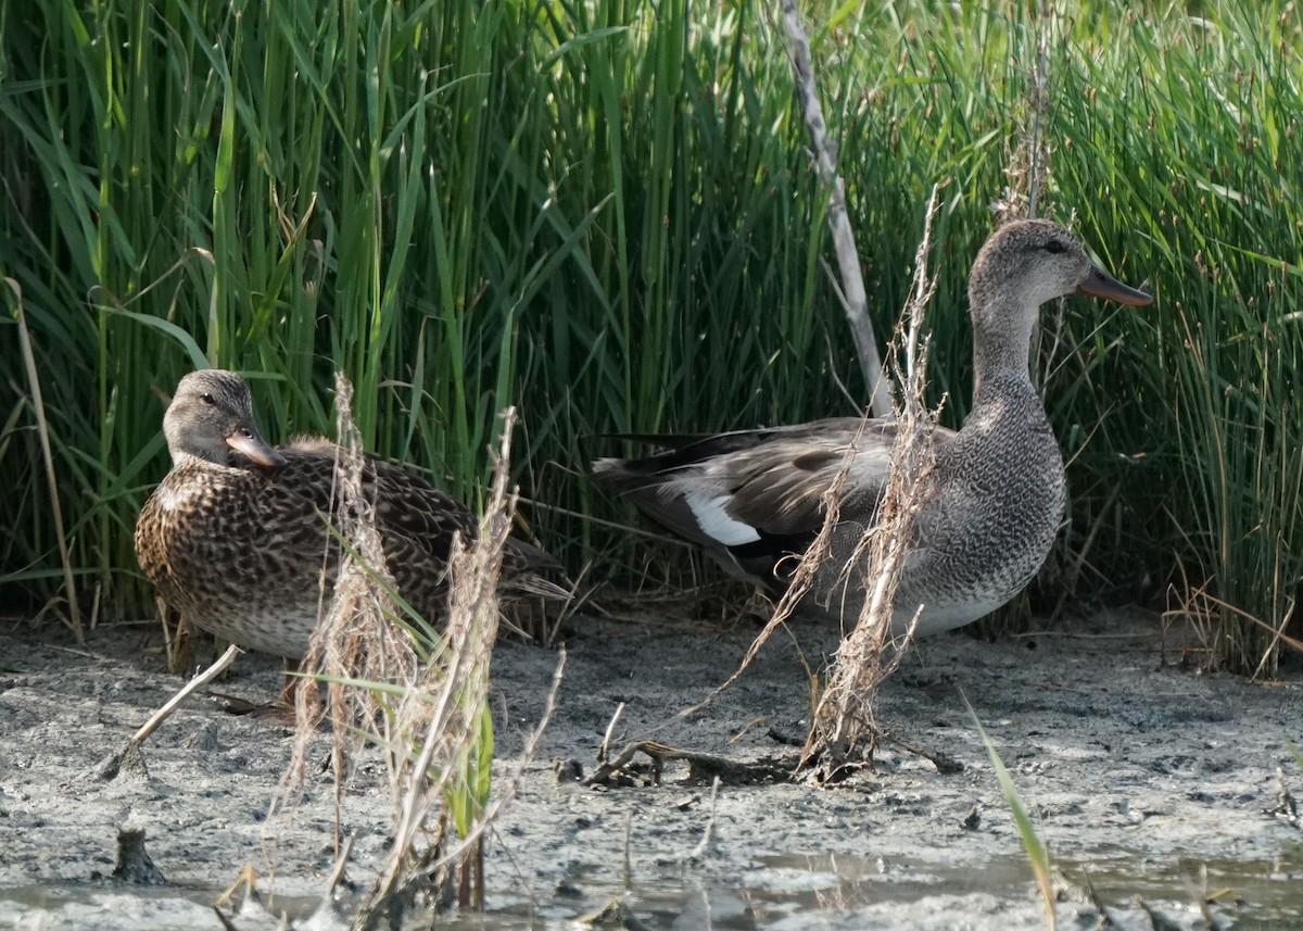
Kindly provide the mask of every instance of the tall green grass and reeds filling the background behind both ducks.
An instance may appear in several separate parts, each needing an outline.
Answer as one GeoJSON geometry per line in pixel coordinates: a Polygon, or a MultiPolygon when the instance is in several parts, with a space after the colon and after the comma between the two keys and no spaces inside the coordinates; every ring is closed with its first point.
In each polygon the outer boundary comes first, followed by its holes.
{"type": "MultiPolygon", "coordinates": [[[[1025,3],[979,7],[803,5],[880,335],[946,183],[930,322],[950,424],[968,403],[967,267],[1028,129],[1038,30],[1025,3]]],[[[1201,589],[1280,625],[1303,563],[1303,18],[1250,0],[1057,7],[1049,214],[1157,303],[1046,312],[1071,488],[1046,593],[1161,604],[1175,582],[1173,604],[1239,617],[1190,601],[1201,589]]],[[[631,515],[584,480],[632,449],[601,434],[855,411],[775,16],[0,3],[4,600],[61,609],[57,495],[83,604],[150,613],[132,525],[167,469],[167,392],[205,361],[257,378],[272,439],[332,430],[343,368],[369,446],[472,506],[516,404],[532,531],[599,575],[646,562],[603,523],[631,515]]],[[[1237,630],[1227,655],[1252,668],[1269,640],[1237,630]]]]}

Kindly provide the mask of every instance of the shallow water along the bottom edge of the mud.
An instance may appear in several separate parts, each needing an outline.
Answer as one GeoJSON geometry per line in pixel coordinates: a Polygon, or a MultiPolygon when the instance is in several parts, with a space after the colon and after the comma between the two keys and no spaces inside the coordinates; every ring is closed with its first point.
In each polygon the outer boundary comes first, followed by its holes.
{"type": "MultiPolygon", "coordinates": [[[[1097,901],[1119,928],[1151,928],[1136,897],[1179,928],[1205,928],[1199,898],[1212,897],[1218,927],[1267,931],[1303,927],[1303,848],[1270,862],[1157,863],[1108,853],[1087,862],[1057,859],[1059,927],[1089,928],[1098,911],[1084,893],[1087,876],[1097,901]],[[1066,880],[1066,881],[1065,881],[1066,880]]],[[[0,927],[22,931],[94,928],[189,931],[219,927],[211,910],[218,891],[111,885],[0,889],[0,927]]],[[[499,893],[478,915],[444,915],[455,931],[571,931],[629,927],[584,922],[612,900],[633,915],[632,927],[657,931],[873,931],[877,928],[973,928],[1015,931],[1044,927],[1044,914],[1024,858],[980,867],[908,863],[827,855],[761,857],[735,883],[701,883],[691,868],[635,883],[632,889],[586,884],[575,876],[546,898],[499,893]]],[[[302,918],[317,902],[268,900],[279,914],[302,918]]],[[[248,922],[241,928],[251,928],[248,922]]],[[[423,927],[427,924],[422,924],[423,927]]],[[[262,931],[261,927],[258,931],[262,931]]]]}

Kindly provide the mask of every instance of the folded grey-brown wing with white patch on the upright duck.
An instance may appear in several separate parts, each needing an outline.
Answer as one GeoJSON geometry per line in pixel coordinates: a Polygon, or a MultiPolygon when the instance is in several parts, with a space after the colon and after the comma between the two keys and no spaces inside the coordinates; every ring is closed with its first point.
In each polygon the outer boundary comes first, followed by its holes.
{"type": "Polygon", "coordinates": [[[668,442],[644,459],[599,459],[594,476],[641,511],[744,572],[803,553],[843,467],[842,518],[869,522],[886,485],[893,420],[837,417],[668,442]]]}

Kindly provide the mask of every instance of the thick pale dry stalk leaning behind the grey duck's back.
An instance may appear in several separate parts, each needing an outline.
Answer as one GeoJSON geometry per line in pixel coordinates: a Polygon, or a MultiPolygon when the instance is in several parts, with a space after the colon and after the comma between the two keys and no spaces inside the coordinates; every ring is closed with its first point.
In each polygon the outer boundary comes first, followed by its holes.
{"type": "Polygon", "coordinates": [[[876,417],[891,413],[890,379],[882,368],[878,346],[873,339],[873,325],[869,322],[869,299],[864,291],[864,275],[860,271],[859,250],[855,246],[855,231],[846,211],[846,184],[837,173],[837,145],[827,137],[827,124],[823,121],[823,108],[818,102],[818,87],[814,82],[814,66],[810,61],[810,43],[805,34],[796,0],[782,0],[783,25],[787,29],[790,44],[788,56],[792,74],[796,78],[796,96],[805,116],[805,126],[810,132],[814,167],[820,179],[829,188],[827,226],[833,232],[833,245],[837,252],[837,265],[842,280],[834,280],[846,310],[847,325],[855,339],[855,351],[864,370],[864,381],[870,387],[870,409],[876,417]]]}

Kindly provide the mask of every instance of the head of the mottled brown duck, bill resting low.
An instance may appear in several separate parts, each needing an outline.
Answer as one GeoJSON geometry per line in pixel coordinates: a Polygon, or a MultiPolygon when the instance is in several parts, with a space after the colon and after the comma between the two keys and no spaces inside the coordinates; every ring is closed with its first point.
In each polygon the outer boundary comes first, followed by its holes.
{"type": "Polygon", "coordinates": [[[235,372],[199,369],[185,376],[163,415],[163,433],[173,462],[189,455],[224,464],[231,450],[259,466],[285,462],[258,433],[249,386],[235,372]]]}

